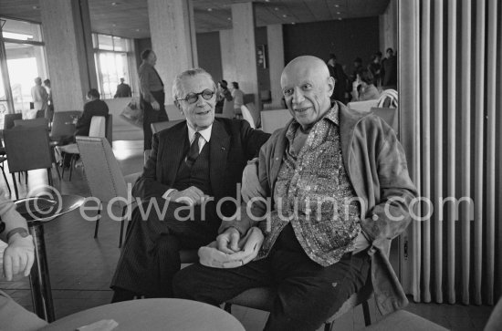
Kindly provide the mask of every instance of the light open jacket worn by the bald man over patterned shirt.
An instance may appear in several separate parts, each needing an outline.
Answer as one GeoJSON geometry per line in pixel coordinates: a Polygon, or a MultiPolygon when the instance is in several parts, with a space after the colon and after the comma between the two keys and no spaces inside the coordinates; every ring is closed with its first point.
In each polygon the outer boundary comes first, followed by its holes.
{"type": "MultiPolygon", "coordinates": [[[[361,210],[364,215],[361,228],[371,242],[368,250],[371,282],[377,307],[385,315],[408,304],[388,255],[392,239],[403,233],[411,222],[408,207],[417,192],[408,175],[403,147],[392,128],[372,113],[356,112],[340,102],[338,105],[343,163],[357,196],[365,202],[361,210]],[[401,221],[390,220],[385,207],[401,221]]],[[[288,126],[274,132],[260,150],[258,179],[267,196],[272,196],[288,146],[288,126]]],[[[222,222],[220,233],[233,226],[244,235],[254,225],[256,222],[243,214],[241,221],[222,222]]],[[[257,225],[263,229],[262,224],[257,225]]]]}

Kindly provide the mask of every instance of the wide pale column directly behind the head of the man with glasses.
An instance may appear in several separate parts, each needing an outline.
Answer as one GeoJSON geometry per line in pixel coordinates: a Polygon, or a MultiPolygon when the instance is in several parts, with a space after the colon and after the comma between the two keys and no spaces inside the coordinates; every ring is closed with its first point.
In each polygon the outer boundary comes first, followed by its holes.
{"type": "Polygon", "coordinates": [[[162,78],[165,104],[173,104],[173,79],[197,67],[197,43],[191,0],[148,0],[152,49],[162,78]]]}

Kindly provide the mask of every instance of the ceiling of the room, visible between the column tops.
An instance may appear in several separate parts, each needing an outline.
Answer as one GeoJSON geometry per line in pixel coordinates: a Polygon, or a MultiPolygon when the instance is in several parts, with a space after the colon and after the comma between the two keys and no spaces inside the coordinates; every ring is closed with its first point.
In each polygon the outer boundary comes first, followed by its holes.
{"type": "MultiPolygon", "coordinates": [[[[40,22],[42,0],[0,0],[0,15],[40,22]]],[[[195,29],[232,28],[232,3],[243,0],[193,0],[195,29]]],[[[256,26],[298,24],[379,16],[389,0],[256,0],[256,26]]],[[[150,36],[147,0],[89,0],[91,29],[113,36],[150,36]]]]}

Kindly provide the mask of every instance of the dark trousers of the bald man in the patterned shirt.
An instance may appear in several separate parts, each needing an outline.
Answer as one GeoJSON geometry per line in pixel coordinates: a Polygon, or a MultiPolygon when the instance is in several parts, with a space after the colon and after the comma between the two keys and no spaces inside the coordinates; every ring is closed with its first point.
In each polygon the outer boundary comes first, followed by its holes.
{"type": "Polygon", "coordinates": [[[346,253],[323,267],[309,259],[289,224],[267,258],[235,269],[193,264],[174,276],[174,295],[211,305],[253,287],[277,288],[266,330],[316,330],[366,283],[367,252],[346,253]]]}

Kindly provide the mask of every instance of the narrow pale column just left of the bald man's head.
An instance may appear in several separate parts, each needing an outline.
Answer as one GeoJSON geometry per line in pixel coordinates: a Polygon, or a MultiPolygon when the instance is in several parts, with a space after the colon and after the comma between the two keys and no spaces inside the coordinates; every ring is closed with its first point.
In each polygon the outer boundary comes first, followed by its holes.
{"type": "Polygon", "coordinates": [[[270,71],[270,91],[272,94],[272,109],[282,108],[282,88],[280,76],[284,69],[284,42],[282,25],[267,26],[268,63],[270,71]]]}

